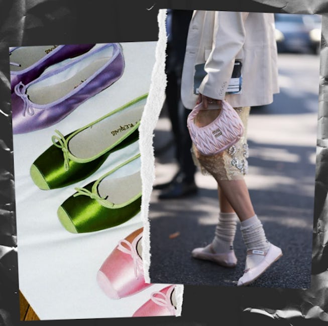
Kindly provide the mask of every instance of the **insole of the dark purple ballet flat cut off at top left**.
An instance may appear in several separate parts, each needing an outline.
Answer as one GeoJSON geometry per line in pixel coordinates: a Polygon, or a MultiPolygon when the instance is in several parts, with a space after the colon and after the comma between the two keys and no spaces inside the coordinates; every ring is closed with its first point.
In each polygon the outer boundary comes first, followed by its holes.
{"type": "Polygon", "coordinates": [[[10,62],[19,64],[20,66],[12,65],[10,66],[10,70],[21,71],[28,68],[34,65],[43,57],[45,57],[56,47],[57,47],[56,45],[39,46],[39,47],[19,47],[10,54],[10,62]]]}

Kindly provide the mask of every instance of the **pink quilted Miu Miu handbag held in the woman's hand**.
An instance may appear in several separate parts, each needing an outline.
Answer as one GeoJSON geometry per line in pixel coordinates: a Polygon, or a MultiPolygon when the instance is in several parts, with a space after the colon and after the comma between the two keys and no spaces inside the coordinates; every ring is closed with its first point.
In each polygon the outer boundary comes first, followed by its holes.
{"type": "Polygon", "coordinates": [[[237,143],[244,133],[244,126],[238,113],[226,101],[217,118],[204,127],[197,127],[194,119],[203,110],[202,103],[196,105],[187,119],[187,126],[192,142],[203,155],[218,154],[237,143]]]}

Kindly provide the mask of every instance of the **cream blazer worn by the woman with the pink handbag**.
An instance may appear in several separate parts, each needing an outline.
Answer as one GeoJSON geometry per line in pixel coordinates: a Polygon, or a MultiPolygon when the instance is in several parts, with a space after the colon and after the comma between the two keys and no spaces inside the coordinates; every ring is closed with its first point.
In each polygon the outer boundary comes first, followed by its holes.
{"type": "Polygon", "coordinates": [[[258,106],[279,92],[274,15],[194,11],[189,25],[181,81],[183,105],[192,109],[195,65],[205,63],[199,92],[233,107],[258,106]],[[235,60],[242,61],[241,94],[226,94],[235,60]]]}

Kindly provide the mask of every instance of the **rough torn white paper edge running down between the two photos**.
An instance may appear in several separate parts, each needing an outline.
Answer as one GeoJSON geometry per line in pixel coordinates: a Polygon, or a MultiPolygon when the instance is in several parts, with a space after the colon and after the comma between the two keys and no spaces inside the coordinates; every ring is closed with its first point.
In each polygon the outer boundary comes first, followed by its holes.
{"type": "MultiPolygon", "coordinates": [[[[142,201],[141,201],[141,218],[143,220],[144,230],[142,237],[142,259],[144,267],[144,277],[146,283],[150,283],[150,222],[148,219],[149,202],[153,183],[155,180],[155,158],[153,148],[154,129],[156,127],[159,114],[162,110],[165,100],[166,74],[166,9],[159,10],[157,22],[159,27],[158,41],[155,50],[155,64],[151,76],[151,84],[147,103],[141,118],[139,127],[139,147],[141,153],[141,180],[142,180],[142,201]]],[[[183,300],[183,285],[175,287],[175,296],[177,301],[176,316],[181,315],[183,300]]]]}

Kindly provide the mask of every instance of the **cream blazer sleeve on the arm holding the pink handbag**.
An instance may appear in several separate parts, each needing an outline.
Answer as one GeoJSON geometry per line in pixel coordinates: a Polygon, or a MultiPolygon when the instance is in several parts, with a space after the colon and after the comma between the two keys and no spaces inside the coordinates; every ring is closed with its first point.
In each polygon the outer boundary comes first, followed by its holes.
{"type": "Polygon", "coordinates": [[[205,63],[207,73],[199,92],[224,100],[234,69],[235,59],[245,42],[245,21],[249,13],[215,12],[212,50],[205,63]]]}

